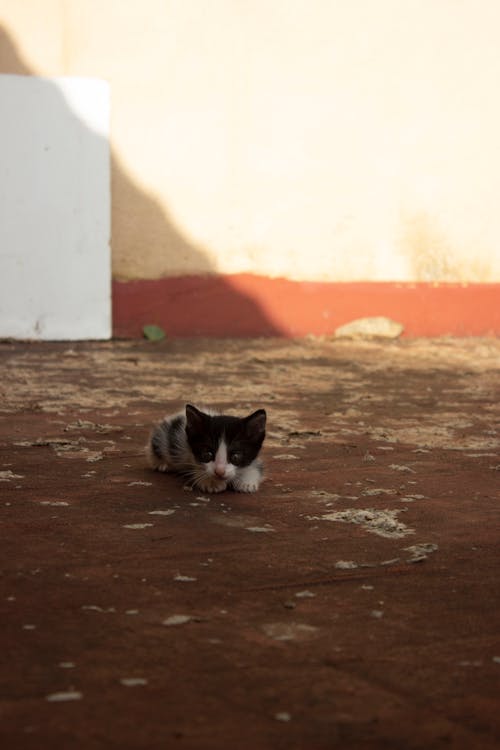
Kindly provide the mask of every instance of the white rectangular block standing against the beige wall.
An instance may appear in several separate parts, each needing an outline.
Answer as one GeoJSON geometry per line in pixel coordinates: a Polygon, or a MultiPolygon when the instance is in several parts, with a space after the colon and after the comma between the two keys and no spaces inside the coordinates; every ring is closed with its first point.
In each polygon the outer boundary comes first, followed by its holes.
{"type": "Polygon", "coordinates": [[[109,87],[0,75],[0,336],[111,335],[109,87]]]}

